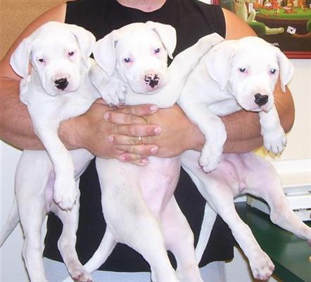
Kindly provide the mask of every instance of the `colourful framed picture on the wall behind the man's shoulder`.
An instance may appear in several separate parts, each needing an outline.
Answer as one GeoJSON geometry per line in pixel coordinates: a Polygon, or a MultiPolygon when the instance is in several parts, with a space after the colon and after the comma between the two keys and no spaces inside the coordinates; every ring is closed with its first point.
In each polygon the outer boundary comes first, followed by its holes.
{"type": "Polygon", "coordinates": [[[202,0],[242,18],[291,59],[311,59],[311,0],[202,0]]]}

